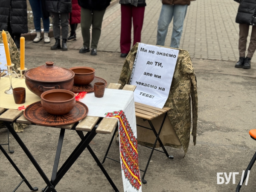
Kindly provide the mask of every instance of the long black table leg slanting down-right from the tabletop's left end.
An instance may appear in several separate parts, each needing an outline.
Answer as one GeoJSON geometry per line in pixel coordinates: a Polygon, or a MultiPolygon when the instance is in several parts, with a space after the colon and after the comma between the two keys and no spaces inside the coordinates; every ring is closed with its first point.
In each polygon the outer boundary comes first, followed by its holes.
{"type": "Polygon", "coordinates": [[[52,183],[49,181],[49,179],[47,178],[47,176],[45,175],[45,173],[43,172],[43,170],[41,169],[41,167],[38,165],[38,163],[36,162],[35,158],[32,156],[32,154],[30,153],[30,151],[28,150],[28,148],[26,147],[26,145],[23,143],[23,141],[20,139],[20,137],[17,135],[17,133],[14,131],[14,129],[12,128],[12,126],[10,125],[9,122],[4,121],[4,124],[6,125],[6,127],[9,129],[9,131],[12,133],[12,136],[15,138],[15,140],[17,141],[17,143],[20,145],[20,147],[22,148],[22,150],[25,152],[25,154],[27,155],[27,157],[29,157],[29,160],[31,161],[31,163],[35,166],[35,169],[38,171],[38,173],[41,175],[41,177],[43,178],[44,182],[47,184],[47,186],[52,190],[52,192],[57,192],[54,187],[52,186],[52,183]]]}

